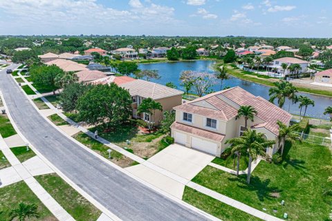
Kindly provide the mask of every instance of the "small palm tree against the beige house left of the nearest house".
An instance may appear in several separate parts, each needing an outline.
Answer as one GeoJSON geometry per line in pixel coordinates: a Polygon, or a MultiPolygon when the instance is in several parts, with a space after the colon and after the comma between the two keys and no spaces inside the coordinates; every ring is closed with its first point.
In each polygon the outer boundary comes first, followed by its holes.
{"type": "Polygon", "coordinates": [[[147,99],[143,99],[140,106],[138,106],[137,113],[146,113],[149,115],[150,119],[147,122],[147,126],[149,128],[149,131],[154,127],[154,116],[156,114],[156,111],[163,111],[163,106],[159,102],[155,102],[154,99],[151,99],[151,97],[147,99]]]}

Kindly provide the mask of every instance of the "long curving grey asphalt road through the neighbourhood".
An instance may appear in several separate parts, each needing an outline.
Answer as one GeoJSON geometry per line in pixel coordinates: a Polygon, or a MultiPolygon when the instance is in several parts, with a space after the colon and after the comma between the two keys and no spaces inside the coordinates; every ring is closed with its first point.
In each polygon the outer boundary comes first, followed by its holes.
{"type": "MultiPolygon", "coordinates": [[[[16,65],[8,68],[14,69],[16,65]]],[[[17,82],[0,72],[0,88],[19,130],[69,179],[122,220],[208,220],[102,162],[39,115],[17,82]]]]}

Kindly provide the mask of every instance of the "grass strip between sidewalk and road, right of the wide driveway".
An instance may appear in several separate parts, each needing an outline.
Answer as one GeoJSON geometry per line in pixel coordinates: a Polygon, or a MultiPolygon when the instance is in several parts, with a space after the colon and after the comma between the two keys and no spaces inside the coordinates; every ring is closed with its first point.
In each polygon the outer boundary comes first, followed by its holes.
{"type": "Polygon", "coordinates": [[[224,221],[260,220],[188,186],[185,186],[182,200],[224,221]]]}

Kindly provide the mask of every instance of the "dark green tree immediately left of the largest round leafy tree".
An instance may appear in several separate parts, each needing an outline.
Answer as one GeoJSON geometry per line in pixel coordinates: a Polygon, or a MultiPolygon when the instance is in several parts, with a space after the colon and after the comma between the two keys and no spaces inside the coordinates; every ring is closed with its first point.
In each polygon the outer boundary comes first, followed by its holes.
{"type": "Polygon", "coordinates": [[[59,97],[62,103],[62,110],[65,112],[75,111],[77,100],[91,87],[91,84],[83,83],[66,84],[59,97]]]}

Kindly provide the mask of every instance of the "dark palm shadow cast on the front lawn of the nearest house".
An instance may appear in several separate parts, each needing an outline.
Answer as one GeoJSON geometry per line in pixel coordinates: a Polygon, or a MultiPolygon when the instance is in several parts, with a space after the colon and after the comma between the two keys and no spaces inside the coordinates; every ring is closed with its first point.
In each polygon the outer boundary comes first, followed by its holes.
{"type": "Polygon", "coordinates": [[[270,186],[270,179],[261,180],[258,176],[250,177],[250,184],[247,184],[247,175],[239,175],[239,177],[230,177],[228,180],[239,182],[237,186],[247,191],[255,192],[259,201],[263,202],[265,199],[279,198],[282,192],[276,186],[270,186]]]}

